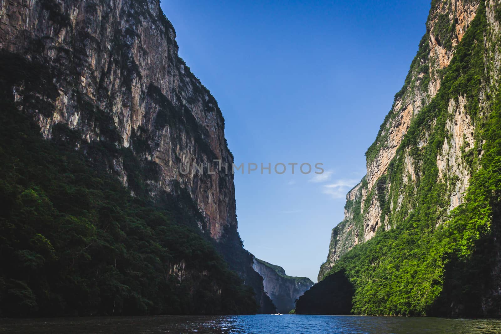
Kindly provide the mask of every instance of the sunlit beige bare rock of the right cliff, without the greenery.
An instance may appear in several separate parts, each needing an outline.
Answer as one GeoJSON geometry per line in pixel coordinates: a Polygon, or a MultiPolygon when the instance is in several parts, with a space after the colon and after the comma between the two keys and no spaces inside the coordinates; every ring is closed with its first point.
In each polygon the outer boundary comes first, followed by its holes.
{"type": "MultiPolygon", "coordinates": [[[[414,58],[405,84],[395,95],[393,106],[380,127],[374,143],[366,152],[367,174],[346,196],[345,218],[331,234],[331,242],[327,261],[320,268],[318,280],[333,267],[336,260],[355,245],[371,239],[380,228],[393,228],[412,211],[412,200],[415,194],[402,189],[416,189],[416,182],[423,170],[423,160],[416,159],[413,150],[428,144],[428,129],[420,129],[419,141],[408,147],[401,156],[397,149],[405,140],[410,125],[419,112],[427,107],[441,87],[441,71],[447,68],[455,50],[475,18],[480,1],[456,0],[452,2],[432,2],[426,34],[423,36],[419,50],[414,58]],[[405,171],[402,182],[388,178],[388,169],[396,161],[403,159],[405,171]],[[395,200],[391,198],[392,184],[399,184],[400,189],[395,200]],[[403,212],[406,212],[403,214],[403,212]]],[[[486,2],[487,17],[492,34],[498,33],[498,23],[494,19],[495,2],[486,2]]],[[[488,46],[492,47],[492,46],[488,46]]],[[[489,55],[498,67],[499,55],[489,55]]],[[[495,68],[492,68],[494,73],[495,68]]],[[[493,74],[493,78],[494,78],[493,74]]],[[[483,94],[479,93],[480,100],[483,94]]],[[[464,96],[457,96],[449,102],[449,119],[444,126],[447,139],[443,143],[441,153],[436,157],[439,169],[439,182],[446,184],[447,191],[443,199],[449,203],[443,207],[442,218],[450,210],[461,204],[461,198],[468,186],[471,170],[464,161],[464,151],[473,148],[475,124],[465,112],[467,104],[464,96]]],[[[430,120],[430,122],[433,122],[430,120]]],[[[437,224],[441,219],[437,221],[437,224]]]]}

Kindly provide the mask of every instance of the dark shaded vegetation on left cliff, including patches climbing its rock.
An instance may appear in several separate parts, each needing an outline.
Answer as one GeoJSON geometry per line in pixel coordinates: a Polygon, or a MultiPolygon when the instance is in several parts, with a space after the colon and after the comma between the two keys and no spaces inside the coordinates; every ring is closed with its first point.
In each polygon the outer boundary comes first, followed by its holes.
{"type": "MultiPolygon", "coordinates": [[[[141,1],[128,5],[120,16],[130,28],[119,29],[113,24],[116,18],[105,16],[113,36],[99,41],[85,29],[73,31],[64,6],[43,0],[43,15],[54,29],[66,29],[71,48],[54,47],[49,59],[44,55],[52,44],[35,34],[25,46],[26,58],[0,52],[0,122],[5,126],[0,133],[0,198],[5,201],[0,212],[0,316],[253,313],[256,301],[262,311],[274,310],[236,228],[214,242],[203,233],[205,220],[179,183],[169,183],[169,193],[155,187],[159,166],[146,156],[158,145],[152,140],[156,129],[134,129],[130,147],[121,146],[109,111],[118,92],[124,106],[129,103],[133,84],[143,79],[130,41],[145,41],[135,28],[146,22],[165,38],[172,51],[165,57],[173,70],[181,71],[184,63],[177,55],[174,28],[161,9],[156,13],[141,1]],[[94,78],[96,96],[91,99],[79,91],[80,80],[92,58],[89,50],[104,50],[102,43],[113,63],[94,78]],[[120,75],[112,74],[115,69],[120,75]],[[53,138],[44,141],[31,119],[41,115],[51,123],[60,91],[72,101],[75,97],[65,116],[78,113],[77,127],[85,134],[55,124],[53,138]],[[15,106],[8,102],[14,100],[13,92],[23,96],[15,106]],[[97,138],[82,140],[89,133],[97,138]],[[125,173],[116,172],[122,167],[125,173]],[[124,174],[124,180],[117,177],[124,174]]],[[[98,7],[92,2],[82,6],[92,26],[98,7]]],[[[152,102],[145,117],[153,119],[146,124],[184,131],[193,137],[197,153],[210,159],[214,153],[207,130],[194,119],[189,101],[216,113],[219,128],[224,126],[221,111],[189,68],[180,80],[185,89],[172,101],[153,85],[141,93],[140,99],[152,102]]],[[[224,187],[227,181],[220,178],[224,187]]]]}

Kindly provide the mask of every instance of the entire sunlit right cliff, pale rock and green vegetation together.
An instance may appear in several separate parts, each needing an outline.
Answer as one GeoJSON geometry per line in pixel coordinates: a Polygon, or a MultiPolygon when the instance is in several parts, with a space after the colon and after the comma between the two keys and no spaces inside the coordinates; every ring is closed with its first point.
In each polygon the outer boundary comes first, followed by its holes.
{"type": "Polygon", "coordinates": [[[353,284],[353,313],[499,316],[500,20],[499,1],[432,2],[319,272],[353,284]]]}

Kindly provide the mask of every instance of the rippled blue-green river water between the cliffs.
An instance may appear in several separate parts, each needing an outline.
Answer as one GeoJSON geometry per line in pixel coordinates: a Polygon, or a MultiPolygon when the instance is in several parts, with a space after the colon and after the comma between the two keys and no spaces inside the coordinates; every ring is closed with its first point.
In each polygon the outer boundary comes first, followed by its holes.
{"type": "Polygon", "coordinates": [[[115,316],[2,319],[0,333],[501,333],[501,320],[337,315],[115,316]]]}

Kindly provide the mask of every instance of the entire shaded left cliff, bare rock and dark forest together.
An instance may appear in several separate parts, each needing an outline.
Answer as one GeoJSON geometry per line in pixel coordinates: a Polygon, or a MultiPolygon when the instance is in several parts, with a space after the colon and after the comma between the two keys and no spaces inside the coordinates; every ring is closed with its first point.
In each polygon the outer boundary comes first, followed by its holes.
{"type": "Polygon", "coordinates": [[[232,177],[177,174],[232,154],[158,0],[0,17],[0,316],[274,312],[232,177]]]}

